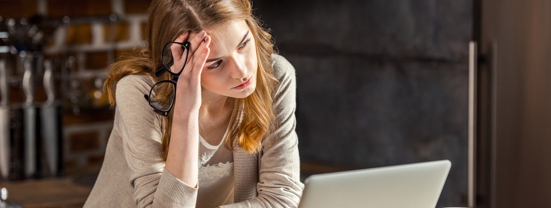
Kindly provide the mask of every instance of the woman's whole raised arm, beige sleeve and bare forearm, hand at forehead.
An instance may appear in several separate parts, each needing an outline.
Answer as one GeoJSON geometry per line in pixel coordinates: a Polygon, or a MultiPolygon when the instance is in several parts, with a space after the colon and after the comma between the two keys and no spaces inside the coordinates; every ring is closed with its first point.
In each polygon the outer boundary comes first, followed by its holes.
{"type": "MultiPolygon", "coordinates": [[[[193,56],[188,58],[176,87],[171,142],[166,162],[163,161],[160,144],[160,121],[143,100],[143,94],[149,92],[152,84],[129,78],[123,78],[117,84],[117,110],[120,110],[123,125],[123,146],[138,207],[195,207],[198,109],[201,106],[199,81],[209,54],[210,38],[207,36],[204,42],[204,37],[194,38],[190,40],[190,54],[193,56]]],[[[187,34],[183,34],[175,41],[183,42],[186,39],[187,34]]],[[[175,57],[175,60],[175,65],[179,64],[179,59],[175,57]]]]}

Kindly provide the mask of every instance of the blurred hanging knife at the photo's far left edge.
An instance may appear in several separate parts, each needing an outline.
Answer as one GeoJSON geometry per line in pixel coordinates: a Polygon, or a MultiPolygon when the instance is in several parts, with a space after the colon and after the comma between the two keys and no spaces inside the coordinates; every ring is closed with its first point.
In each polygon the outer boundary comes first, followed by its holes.
{"type": "Polygon", "coordinates": [[[10,135],[9,135],[9,89],[6,60],[0,60],[0,178],[9,178],[10,135]]]}

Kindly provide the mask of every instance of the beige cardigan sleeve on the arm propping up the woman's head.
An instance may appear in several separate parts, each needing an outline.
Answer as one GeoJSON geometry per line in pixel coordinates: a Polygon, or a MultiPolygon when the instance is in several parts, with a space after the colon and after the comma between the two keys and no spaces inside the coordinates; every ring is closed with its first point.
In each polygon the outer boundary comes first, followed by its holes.
{"type": "Polygon", "coordinates": [[[153,85],[148,80],[145,75],[125,76],[118,81],[115,94],[134,201],[138,207],[195,207],[197,188],[164,168],[161,118],[144,99],[153,85]]]}

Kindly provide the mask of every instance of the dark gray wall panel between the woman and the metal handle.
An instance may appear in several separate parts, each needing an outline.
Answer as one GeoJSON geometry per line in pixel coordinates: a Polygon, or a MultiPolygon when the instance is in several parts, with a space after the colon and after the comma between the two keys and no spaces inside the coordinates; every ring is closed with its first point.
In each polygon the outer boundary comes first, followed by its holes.
{"type": "Polygon", "coordinates": [[[296,68],[302,161],[448,159],[437,207],[466,206],[472,1],[268,1],[255,14],[296,68]]]}

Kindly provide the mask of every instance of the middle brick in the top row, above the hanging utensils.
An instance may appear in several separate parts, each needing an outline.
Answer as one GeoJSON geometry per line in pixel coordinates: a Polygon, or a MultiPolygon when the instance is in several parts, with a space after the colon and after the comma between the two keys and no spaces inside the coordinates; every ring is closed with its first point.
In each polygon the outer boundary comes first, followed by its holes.
{"type": "MultiPolygon", "coordinates": [[[[132,2],[132,1],[131,1],[132,2]]],[[[111,14],[110,0],[49,0],[48,14],[51,17],[105,16],[111,14]]]]}

